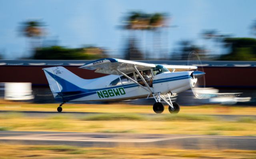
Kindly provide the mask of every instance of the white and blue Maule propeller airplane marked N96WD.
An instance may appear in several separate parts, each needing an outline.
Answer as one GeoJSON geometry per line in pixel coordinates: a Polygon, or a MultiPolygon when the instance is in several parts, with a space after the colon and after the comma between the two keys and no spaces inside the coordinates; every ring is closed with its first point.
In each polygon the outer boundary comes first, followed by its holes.
{"type": "Polygon", "coordinates": [[[115,58],[104,58],[86,63],[80,69],[108,74],[96,79],[82,79],[64,67],[48,67],[43,71],[56,101],[62,105],[75,101],[117,101],[153,97],[155,113],[180,111],[180,105],[171,96],[193,88],[198,78],[205,75],[196,66],[159,65],[115,58]],[[193,71],[194,70],[194,71],[193,71]]]}

